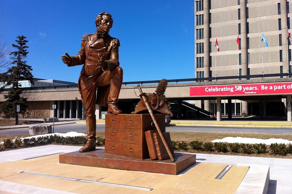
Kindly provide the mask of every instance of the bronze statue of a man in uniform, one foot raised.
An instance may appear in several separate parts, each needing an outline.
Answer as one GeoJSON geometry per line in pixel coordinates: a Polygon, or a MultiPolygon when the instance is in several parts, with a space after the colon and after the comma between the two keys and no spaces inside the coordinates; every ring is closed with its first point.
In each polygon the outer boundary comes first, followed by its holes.
{"type": "Polygon", "coordinates": [[[95,104],[108,105],[107,112],[122,113],[117,100],[123,81],[123,70],[119,67],[119,46],[117,38],[108,33],[112,27],[112,15],[102,12],[95,19],[97,30],[94,34],[83,35],[81,49],[76,56],[67,53],[62,56],[69,66],[83,65],[78,88],[85,106],[87,143],[79,152],[95,150],[96,116],[95,104]]]}

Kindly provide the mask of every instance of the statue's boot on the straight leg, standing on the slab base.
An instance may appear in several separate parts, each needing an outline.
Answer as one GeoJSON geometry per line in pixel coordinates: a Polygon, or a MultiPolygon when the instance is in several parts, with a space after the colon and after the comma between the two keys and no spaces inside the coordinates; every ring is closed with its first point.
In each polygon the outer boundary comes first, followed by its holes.
{"type": "Polygon", "coordinates": [[[87,142],[79,149],[79,152],[90,152],[95,150],[96,146],[96,117],[86,117],[87,142]]]}

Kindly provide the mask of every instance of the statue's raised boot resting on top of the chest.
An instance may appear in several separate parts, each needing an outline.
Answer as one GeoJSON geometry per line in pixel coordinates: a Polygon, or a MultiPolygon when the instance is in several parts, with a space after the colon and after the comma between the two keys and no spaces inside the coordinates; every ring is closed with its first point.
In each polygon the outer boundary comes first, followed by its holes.
{"type": "Polygon", "coordinates": [[[107,113],[120,114],[122,111],[118,108],[117,102],[122,86],[122,79],[113,77],[110,83],[109,98],[107,101],[107,113]]]}

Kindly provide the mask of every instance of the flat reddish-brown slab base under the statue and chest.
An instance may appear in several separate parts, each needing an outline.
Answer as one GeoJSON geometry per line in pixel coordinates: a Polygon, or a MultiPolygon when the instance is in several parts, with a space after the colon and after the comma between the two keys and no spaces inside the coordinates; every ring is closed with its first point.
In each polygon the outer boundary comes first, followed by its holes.
{"type": "Polygon", "coordinates": [[[196,163],[195,154],[175,153],[175,161],[135,159],[127,156],[106,154],[105,149],[96,149],[92,152],[70,152],[59,155],[59,163],[120,170],[177,175],[196,163]]]}

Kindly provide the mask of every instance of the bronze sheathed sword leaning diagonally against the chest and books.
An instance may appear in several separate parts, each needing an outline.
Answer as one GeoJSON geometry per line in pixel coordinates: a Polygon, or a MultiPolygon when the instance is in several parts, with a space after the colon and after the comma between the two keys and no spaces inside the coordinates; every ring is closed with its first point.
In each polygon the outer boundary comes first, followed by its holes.
{"type": "MultiPolygon", "coordinates": [[[[142,89],[140,88],[140,85],[139,85],[139,84],[137,84],[137,87],[138,87],[139,92],[140,92],[140,95],[139,95],[139,96],[142,98],[142,100],[144,101],[144,103],[145,103],[145,105],[146,105],[146,107],[147,107],[147,109],[148,109],[148,112],[149,112],[149,114],[150,114],[150,116],[151,116],[151,118],[152,118],[152,121],[153,121],[153,123],[154,123],[154,125],[155,125],[155,127],[156,127],[156,129],[157,129],[157,131],[158,131],[158,134],[159,134],[159,136],[160,136],[160,138],[161,138],[161,140],[162,140],[162,143],[163,143],[163,145],[164,145],[164,147],[165,147],[165,149],[166,149],[166,151],[167,151],[167,154],[168,154],[168,156],[170,157],[171,161],[174,162],[174,158],[173,158],[173,156],[172,156],[172,154],[171,154],[171,152],[170,152],[170,150],[169,150],[169,147],[168,147],[168,145],[167,145],[167,143],[166,143],[166,141],[165,141],[165,138],[164,138],[164,136],[163,136],[163,134],[162,134],[162,132],[161,132],[161,130],[160,130],[158,124],[157,124],[157,121],[156,121],[156,119],[155,119],[155,117],[154,117],[154,114],[153,114],[153,112],[152,112],[152,108],[151,108],[151,106],[149,105],[149,102],[148,102],[148,100],[147,100],[147,95],[146,95],[145,92],[142,92],[142,89]]],[[[136,88],[136,87],[135,87],[135,88],[136,88]]],[[[134,92],[135,92],[135,88],[134,88],[134,92]]],[[[135,92],[135,94],[136,94],[136,92],[135,92]]],[[[137,96],[137,95],[136,95],[136,96],[137,96]]]]}

